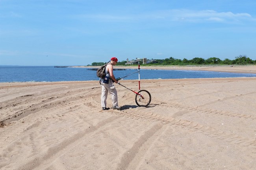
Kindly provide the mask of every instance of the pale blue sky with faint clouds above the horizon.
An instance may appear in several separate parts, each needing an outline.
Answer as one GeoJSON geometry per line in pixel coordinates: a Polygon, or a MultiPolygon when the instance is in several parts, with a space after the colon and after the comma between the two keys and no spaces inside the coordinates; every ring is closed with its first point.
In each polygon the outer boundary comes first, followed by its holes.
{"type": "Polygon", "coordinates": [[[255,0],[0,0],[0,65],[256,60],[255,0]]]}

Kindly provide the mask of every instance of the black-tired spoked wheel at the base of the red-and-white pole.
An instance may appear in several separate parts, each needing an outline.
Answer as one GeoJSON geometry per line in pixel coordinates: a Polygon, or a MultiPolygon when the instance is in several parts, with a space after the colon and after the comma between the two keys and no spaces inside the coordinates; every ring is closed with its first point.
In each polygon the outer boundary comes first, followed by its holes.
{"type": "Polygon", "coordinates": [[[151,102],[151,95],[147,90],[140,90],[135,95],[135,102],[140,107],[147,107],[151,102]]]}

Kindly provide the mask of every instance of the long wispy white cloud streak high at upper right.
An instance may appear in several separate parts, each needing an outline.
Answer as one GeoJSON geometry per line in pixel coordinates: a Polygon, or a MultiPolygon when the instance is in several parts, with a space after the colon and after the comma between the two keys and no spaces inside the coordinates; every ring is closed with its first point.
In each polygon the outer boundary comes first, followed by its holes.
{"type": "Polygon", "coordinates": [[[130,22],[130,21],[148,21],[148,20],[171,20],[173,22],[241,22],[245,19],[254,20],[249,13],[217,12],[214,10],[193,11],[189,9],[171,9],[165,11],[151,11],[150,13],[141,13],[137,15],[119,15],[119,14],[90,14],[76,15],[76,18],[93,19],[105,22],[130,22]]]}

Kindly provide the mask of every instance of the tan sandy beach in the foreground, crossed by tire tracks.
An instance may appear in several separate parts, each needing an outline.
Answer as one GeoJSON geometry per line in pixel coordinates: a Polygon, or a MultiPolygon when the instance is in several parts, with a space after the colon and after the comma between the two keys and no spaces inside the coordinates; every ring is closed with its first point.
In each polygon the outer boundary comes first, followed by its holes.
{"type": "Polygon", "coordinates": [[[115,86],[120,111],[98,81],[0,83],[0,169],[256,169],[256,77],[115,86]]]}

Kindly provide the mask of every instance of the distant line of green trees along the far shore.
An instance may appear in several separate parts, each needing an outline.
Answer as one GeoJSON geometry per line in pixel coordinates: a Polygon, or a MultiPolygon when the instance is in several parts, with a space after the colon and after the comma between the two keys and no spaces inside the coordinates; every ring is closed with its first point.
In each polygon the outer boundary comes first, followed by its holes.
{"type": "MultiPolygon", "coordinates": [[[[207,65],[207,64],[245,65],[245,64],[256,64],[256,60],[252,60],[249,57],[246,57],[245,55],[239,55],[238,57],[235,57],[234,60],[230,60],[228,58],[221,60],[216,57],[210,57],[206,60],[204,58],[198,58],[198,57],[195,57],[191,60],[187,60],[186,58],[181,60],[181,59],[176,59],[173,57],[165,58],[165,59],[155,59],[155,60],[158,63],[150,64],[150,65],[207,65]]],[[[117,65],[121,66],[121,65],[124,65],[125,63],[126,63],[126,61],[117,62],[117,65]]],[[[104,62],[93,62],[91,64],[91,66],[102,66],[104,64],[105,64],[104,62]]],[[[142,62],[140,64],[142,64],[142,62]]]]}

